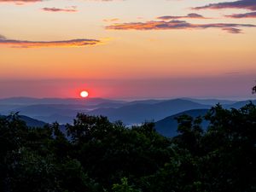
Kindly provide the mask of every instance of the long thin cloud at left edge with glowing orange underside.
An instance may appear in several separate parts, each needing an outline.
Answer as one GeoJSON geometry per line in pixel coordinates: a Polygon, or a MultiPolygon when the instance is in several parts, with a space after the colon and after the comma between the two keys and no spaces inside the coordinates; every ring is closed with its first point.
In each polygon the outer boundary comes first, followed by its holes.
{"type": "Polygon", "coordinates": [[[86,38],[71,39],[64,41],[24,41],[0,38],[0,45],[9,45],[13,48],[85,47],[97,44],[103,44],[103,42],[101,40],[86,38]]]}

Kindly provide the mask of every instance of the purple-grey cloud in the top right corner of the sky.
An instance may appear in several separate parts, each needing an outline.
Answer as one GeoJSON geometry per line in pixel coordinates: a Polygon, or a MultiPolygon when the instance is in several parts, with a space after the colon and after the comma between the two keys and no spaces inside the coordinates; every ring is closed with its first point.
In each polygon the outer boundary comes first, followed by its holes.
{"type": "Polygon", "coordinates": [[[194,9],[249,9],[256,10],[255,0],[239,0],[235,2],[211,3],[194,9]]]}

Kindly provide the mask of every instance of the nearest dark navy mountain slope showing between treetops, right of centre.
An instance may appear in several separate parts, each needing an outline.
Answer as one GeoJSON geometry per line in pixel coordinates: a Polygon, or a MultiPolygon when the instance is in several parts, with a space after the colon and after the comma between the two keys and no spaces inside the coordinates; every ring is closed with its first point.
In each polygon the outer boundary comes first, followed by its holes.
{"type": "MultiPolygon", "coordinates": [[[[189,111],[184,111],[182,113],[177,113],[172,116],[166,117],[165,119],[161,119],[155,122],[155,130],[158,131],[161,135],[165,137],[175,137],[177,136],[177,117],[187,114],[193,118],[198,116],[203,116],[207,113],[208,109],[193,109],[189,111]]],[[[207,127],[207,121],[202,122],[202,126],[204,128],[207,127]]]]}

